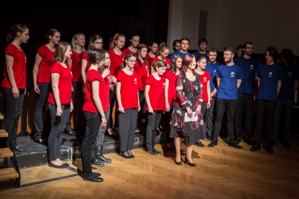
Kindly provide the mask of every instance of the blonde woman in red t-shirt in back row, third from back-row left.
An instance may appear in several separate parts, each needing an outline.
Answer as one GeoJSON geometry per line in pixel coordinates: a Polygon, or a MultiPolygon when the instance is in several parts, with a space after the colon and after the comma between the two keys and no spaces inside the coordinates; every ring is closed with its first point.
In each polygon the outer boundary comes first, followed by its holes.
{"type": "MultiPolygon", "coordinates": [[[[82,106],[83,106],[83,92],[82,92],[82,85],[83,80],[81,76],[81,67],[82,67],[82,57],[85,50],[85,35],[78,33],[75,34],[72,38],[72,55],[70,59],[67,59],[67,64],[70,66],[73,79],[72,79],[72,102],[75,104],[76,97],[78,98],[79,103],[79,111],[78,111],[78,126],[80,126],[80,122],[82,120],[82,106]]],[[[75,131],[73,131],[71,126],[71,120],[72,120],[72,112],[69,115],[69,118],[66,122],[64,131],[68,135],[75,135],[75,131]]]]}

